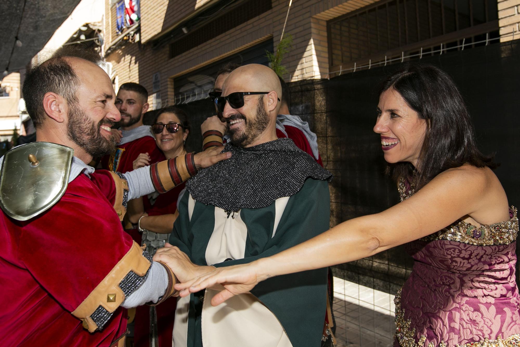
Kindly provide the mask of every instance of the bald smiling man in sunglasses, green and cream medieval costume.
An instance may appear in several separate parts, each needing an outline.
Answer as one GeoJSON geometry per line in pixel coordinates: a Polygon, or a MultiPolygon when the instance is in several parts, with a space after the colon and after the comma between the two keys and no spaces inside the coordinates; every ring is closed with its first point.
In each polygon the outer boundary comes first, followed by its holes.
{"type": "MultiPolygon", "coordinates": [[[[278,139],[281,86],[275,72],[250,64],[230,73],[215,104],[229,125],[229,165],[187,181],[170,244],[155,259],[177,279],[204,267],[243,264],[278,253],[329,228],[332,179],[288,138],[278,139]]],[[[207,289],[177,302],[175,347],[315,346],[326,311],[327,269],[280,276],[227,305],[207,289]]]]}

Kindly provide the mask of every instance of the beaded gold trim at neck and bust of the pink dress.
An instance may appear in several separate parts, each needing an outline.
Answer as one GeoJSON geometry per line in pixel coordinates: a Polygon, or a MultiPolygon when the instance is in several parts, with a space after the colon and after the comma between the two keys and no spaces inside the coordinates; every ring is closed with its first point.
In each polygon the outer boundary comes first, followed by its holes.
{"type": "MultiPolygon", "coordinates": [[[[399,180],[398,191],[401,201],[408,199],[414,193],[413,189],[407,190],[404,178],[399,180]]],[[[459,219],[452,225],[419,240],[458,241],[476,246],[509,244],[515,241],[518,235],[517,209],[514,206],[510,207],[510,214],[512,217],[509,220],[491,225],[482,224],[479,228],[459,219]]]]}

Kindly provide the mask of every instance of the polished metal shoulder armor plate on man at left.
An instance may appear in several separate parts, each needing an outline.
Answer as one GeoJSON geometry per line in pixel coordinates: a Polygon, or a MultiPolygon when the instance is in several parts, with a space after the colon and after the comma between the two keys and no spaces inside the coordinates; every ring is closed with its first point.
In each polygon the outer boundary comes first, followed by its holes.
{"type": "Polygon", "coordinates": [[[4,155],[0,171],[0,207],[17,220],[31,219],[56,204],[67,189],[74,150],[33,142],[4,155]]]}

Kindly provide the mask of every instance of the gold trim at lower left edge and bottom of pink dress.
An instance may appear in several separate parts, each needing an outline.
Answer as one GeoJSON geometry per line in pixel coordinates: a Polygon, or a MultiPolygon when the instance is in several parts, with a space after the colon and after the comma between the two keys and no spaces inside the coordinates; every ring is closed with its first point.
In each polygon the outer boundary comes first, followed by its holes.
{"type": "MultiPolygon", "coordinates": [[[[426,336],[422,335],[418,342],[415,342],[415,328],[410,328],[411,319],[405,319],[405,310],[401,308],[401,289],[397,292],[394,299],[395,303],[395,335],[401,347],[448,347],[448,344],[441,340],[435,345],[433,342],[426,344],[426,336]]],[[[456,344],[454,347],[518,347],[520,346],[520,334],[514,334],[503,340],[488,340],[456,344]]]]}

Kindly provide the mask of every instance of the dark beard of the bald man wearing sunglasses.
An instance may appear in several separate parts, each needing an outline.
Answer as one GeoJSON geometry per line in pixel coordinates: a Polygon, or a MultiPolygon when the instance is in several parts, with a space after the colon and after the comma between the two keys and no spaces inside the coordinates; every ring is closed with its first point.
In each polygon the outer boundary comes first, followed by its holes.
{"type": "Polygon", "coordinates": [[[227,118],[230,121],[243,119],[245,124],[244,130],[229,129],[228,132],[231,137],[231,142],[239,147],[245,147],[251,144],[269,125],[269,114],[266,112],[263,98],[259,98],[258,106],[256,107],[256,119],[246,119],[241,113],[236,113],[227,118]]]}

